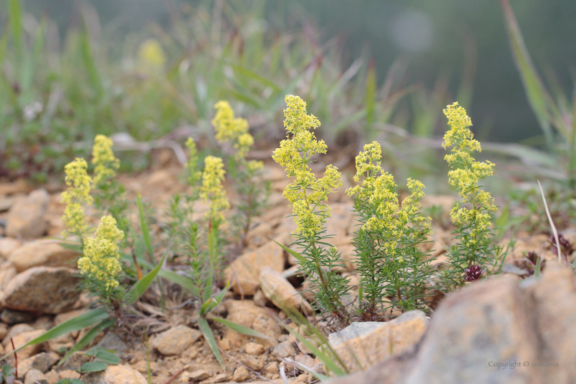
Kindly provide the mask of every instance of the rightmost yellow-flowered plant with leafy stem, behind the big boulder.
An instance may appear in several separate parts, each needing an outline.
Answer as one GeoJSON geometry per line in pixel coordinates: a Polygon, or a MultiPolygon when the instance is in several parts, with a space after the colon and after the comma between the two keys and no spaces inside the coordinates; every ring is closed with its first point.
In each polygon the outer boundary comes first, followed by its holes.
{"type": "Polygon", "coordinates": [[[465,269],[472,266],[490,273],[489,265],[496,265],[501,259],[502,248],[492,242],[492,213],[497,211],[494,198],[484,191],[480,180],[494,173],[490,161],[479,162],[472,157],[480,152],[480,143],[472,139],[472,121],[466,110],[454,103],[444,109],[451,130],[444,134],[442,147],[450,148],[451,153],[444,158],[451,167],[448,182],[455,186],[461,201],[452,209],[451,219],[456,229],[453,232],[457,243],[448,250],[449,267],[442,272],[445,288],[454,289],[463,285],[465,269]]]}

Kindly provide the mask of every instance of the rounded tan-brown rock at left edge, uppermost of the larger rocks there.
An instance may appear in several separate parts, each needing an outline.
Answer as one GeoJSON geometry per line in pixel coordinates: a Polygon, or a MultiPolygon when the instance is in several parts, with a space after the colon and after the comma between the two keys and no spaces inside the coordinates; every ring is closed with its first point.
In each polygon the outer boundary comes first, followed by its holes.
{"type": "Polygon", "coordinates": [[[48,226],[44,215],[49,200],[47,191],[36,189],[14,203],[6,217],[6,236],[34,239],[44,235],[48,226]]]}

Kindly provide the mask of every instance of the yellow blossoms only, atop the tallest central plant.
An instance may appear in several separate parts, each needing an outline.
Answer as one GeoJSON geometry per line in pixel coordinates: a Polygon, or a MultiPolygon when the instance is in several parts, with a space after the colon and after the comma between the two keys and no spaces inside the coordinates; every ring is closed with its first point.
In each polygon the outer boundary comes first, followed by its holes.
{"type": "Polygon", "coordinates": [[[284,197],[292,204],[294,221],[298,224],[296,232],[313,237],[322,230],[326,217],[331,217],[330,207],[322,202],[341,187],[341,175],[336,167],[328,165],[322,178],[314,176],[309,167],[310,157],[326,153],[326,143],[316,140],[310,131],[319,127],[320,121],[307,115],[306,102],[300,97],[287,95],[285,101],[287,139],[280,142],[272,158],[285,168],[287,176],[295,178],[284,189],[284,197]]]}

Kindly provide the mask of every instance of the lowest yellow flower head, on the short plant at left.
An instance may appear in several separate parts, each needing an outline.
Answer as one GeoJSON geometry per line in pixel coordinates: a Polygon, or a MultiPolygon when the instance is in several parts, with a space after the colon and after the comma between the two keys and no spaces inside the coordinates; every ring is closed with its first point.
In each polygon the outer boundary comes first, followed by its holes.
{"type": "Polygon", "coordinates": [[[119,285],[117,277],[121,272],[118,241],[124,232],[116,226],[116,220],[110,215],[102,217],[95,237],[89,237],[84,243],[84,256],[78,259],[80,273],[104,286],[105,291],[119,285]]]}

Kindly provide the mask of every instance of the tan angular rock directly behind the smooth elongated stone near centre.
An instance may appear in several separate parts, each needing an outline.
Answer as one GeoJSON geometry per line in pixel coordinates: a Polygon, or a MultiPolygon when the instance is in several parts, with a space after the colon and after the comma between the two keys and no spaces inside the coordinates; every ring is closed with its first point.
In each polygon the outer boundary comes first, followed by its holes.
{"type": "Polygon", "coordinates": [[[224,276],[230,280],[230,287],[235,293],[253,296],[259,287],[263,267],[276,272],[284,269],[284,250],[274,241],[268,241],[257,250],[239,256],[224,269],[224,276]]]}

